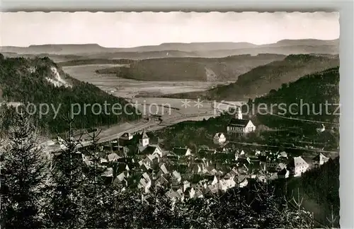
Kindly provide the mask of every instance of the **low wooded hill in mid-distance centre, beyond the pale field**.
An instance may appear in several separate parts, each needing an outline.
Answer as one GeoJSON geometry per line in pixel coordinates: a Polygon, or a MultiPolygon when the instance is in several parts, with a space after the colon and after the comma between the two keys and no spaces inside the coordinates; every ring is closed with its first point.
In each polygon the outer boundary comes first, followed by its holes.
{"type": "Polygon", "coordinates": [[[224,58],[163,58],[135,61],[129,67],[99,69],[99,74],[117,74],[139,81],[236,81],[256,66],[284,59],[278,54],[239,55],[224,58]]]}

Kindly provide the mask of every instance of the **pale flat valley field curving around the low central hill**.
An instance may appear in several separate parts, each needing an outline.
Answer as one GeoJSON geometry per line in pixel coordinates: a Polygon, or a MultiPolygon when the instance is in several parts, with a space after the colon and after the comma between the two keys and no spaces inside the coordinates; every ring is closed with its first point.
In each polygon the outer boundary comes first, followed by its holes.
{"type": "MultiPolygon", "coordinates": [[[[80,81],[92,83],[101,90],[122,98],[135,96],[158,96],[170,93],[185,93],[210,89],[217,82],[202,81],[136,81],[118,78],[115,74],[96,74],[96,70],[122,66],[119,64],[86,64],[79,66],[63,66],[62,69],[80,81]]],[[[227,83],[227,82],[223,82],[227,83]]]]}

